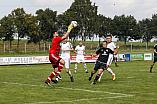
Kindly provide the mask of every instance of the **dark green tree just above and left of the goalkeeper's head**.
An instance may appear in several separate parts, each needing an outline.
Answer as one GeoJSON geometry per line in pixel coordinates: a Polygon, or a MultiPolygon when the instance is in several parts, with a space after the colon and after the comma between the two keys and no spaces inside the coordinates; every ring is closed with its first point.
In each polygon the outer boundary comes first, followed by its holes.
{"type": "Polygon", "coordinates": [[[57,23],[57,12],[50,10],[49,8],[45,9],[43,11],[42,9],[39,9],[36,11],[36,19],[38,22],[38,25],[40,26],[40,34],[39,34],[39,49],[40,49],[40,41],[50,41],[51,32],[52,31],[57,31],[58,26],[56,25],[57,23]]]}

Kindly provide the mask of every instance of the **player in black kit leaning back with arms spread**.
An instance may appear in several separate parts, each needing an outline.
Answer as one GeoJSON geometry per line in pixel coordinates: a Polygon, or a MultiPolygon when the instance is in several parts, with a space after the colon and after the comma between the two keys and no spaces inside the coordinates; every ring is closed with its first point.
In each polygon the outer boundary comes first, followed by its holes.
{"type": "MultiPolygon", "coordinates": [[[[119,45],[117,46],[119,48],[119,45]]],[[[96,60],[94,70],[91,72],[89,77],[89,81],[92,79],[92,76],[97,72],[99,69],[98,74],[96,75],[92,84],[96,84],[96,81],[99,79],[101,73],[106,69],[108,69],[109,65],[107,65],[107,61],[109,58],[109,54],[117,54],[118,48],[114,50],[114,52],[107,48],[107,41],[103,41],[103,47],[96,51],[96,54],[91,54],[92,56],[99,55],[98,59],[96,60]]]]}

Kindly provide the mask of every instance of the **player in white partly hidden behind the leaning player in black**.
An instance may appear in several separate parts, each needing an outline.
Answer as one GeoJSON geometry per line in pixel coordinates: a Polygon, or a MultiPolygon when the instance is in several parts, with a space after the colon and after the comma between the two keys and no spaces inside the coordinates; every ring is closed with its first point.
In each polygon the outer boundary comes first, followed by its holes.
{"type": "MultiPolygon", "coordinates": [[[[108,42],[107,48],[111,49],[112,51],[114,51],[114,50],[117,48],[117,47],[116,47],[116,44],[115,44],[114,42],[112,42],[112,36],[111,36],[111,35],[108,35],[108,36],[107,36],[107,42],[108,42]]],[[[112,74],[112,78],[113,78],[113,80],[115,80],[115,78],[116,78],[116,77],[115,77],[115,74],[114,74],[113,71],[109,68],[109,66],[111,65],[112,61],[113,61],[113,54],[109,54],[109,58],[108,58],[108,61],[107,61],[107,65],[108,65],[107,71],[112,74]]],[[[103,73],[101,74],[101,76],[100,76],[99,79],[98,79],[99,82],[100,82],[100,80],[101,80],[102,75],[103,75],[103,73]]]]}

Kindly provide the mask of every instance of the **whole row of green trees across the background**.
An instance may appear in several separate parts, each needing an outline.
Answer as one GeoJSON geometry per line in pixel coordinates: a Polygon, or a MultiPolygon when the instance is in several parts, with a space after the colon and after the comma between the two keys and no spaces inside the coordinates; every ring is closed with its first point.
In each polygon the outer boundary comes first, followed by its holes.
{"type": "Polygon", "coordinates": [[[26,14],[23,8],[13,10],[0,20],[0,38],[9,41],[10,49],[15,36],[18,37],[17,49],[20,38],[24,37],[28,38],[28,43],[34,42],[40,47],[41,40],[52,40],[52,31],[56,30],[62,36],[72,20],[77,21],[78,26],[72,30],[69,38],[72,41],[82,38],[84,44],[87,38],[93,40],[94,35],[101,38],[111,34],[124,40],[125,45],[131,39],[142,39],[148,45],[157,36],[157,14],[140,21],[124,14],[111,19],[98,14],[98,6],[90,0],[74,0],[70,8],[59,15],[50,8],[39,9],[35,15],[26,14]]]}

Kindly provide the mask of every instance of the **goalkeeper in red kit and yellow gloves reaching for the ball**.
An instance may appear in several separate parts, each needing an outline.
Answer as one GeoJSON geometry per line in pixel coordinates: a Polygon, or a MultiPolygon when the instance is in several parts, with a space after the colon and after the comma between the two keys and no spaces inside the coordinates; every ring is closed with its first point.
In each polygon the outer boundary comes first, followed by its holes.
{"type": "Polygon", "coordinates": [[[52,47],[49,50],[49,60],[54,68],[54,71],[50,74],[50,76],[47,78],[47,80],[45,81],[45,83],[49,86],[52,87],[50,84],[50,81],[57,83],[58,81],[56,80],[52,80],[52,78],[57,74],[57,76],[60,75],[61,69],[63,68],[65,61],[59,57],[59,52],[60,52],[60,42],[64,39],[66,39],[69,34],[70,31],[73,29],[73,26],[70,24],[68,26],[68,31],[66,32],[66,34],[62,37],[58,37],[59,34],[54,31],[52,32],[53,35],[53,40],[52,40],[52,47]],[[57,73],[59,72],[59,73],[57,73]]]}

